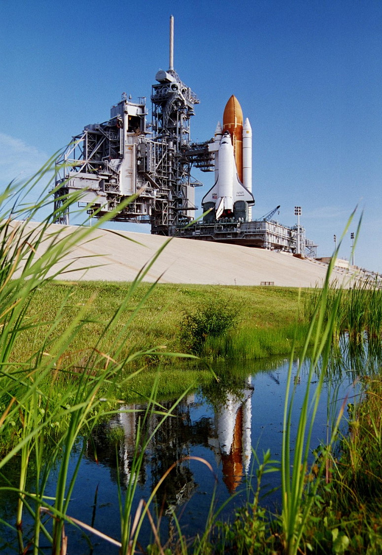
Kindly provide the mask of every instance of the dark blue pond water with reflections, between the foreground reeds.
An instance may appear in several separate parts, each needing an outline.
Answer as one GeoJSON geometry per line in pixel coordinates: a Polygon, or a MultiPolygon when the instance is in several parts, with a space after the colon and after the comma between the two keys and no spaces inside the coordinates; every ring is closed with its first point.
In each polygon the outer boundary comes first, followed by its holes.
{"type": "MultiPolygon", "coordinates": [[[[118,481],[124,492],[128,481],[132,477],[137,478],[134,513],[140,499],[147,500],[171,465],[182,460],[163,481],[157,492],[156,503],[151,506],[154,521],[161,515],[162,539],[166,541],[175,533],[172,511],[177,514],[182,532],[186,536],[203,532],[214,491],[215,510],[230,499],[221,510],[219,519],[232,516],[235,507],[239,507],[248,497],[253,497],[251,488],[256,488],[256,456],[262,462],[262,453],[270,450],[271,458],[280,461],[288,364],[288,359],[240,362],[235,367],[231,363],[229,372],[220,366],[216,370],[223,377],[218,383],[200,388],[192,395],[184,397],[174,408],[172,416],[162,423],[149,441],[143,453],[143,464],[135,476],[132,476],[132,460],[138,422],[144,406],[122,407],[108,425],[122,428],[120,435],[123,437],[118,445],[106,441],[104,429],[94,437],[94,443],[89,442],[86,445],[69,506],[69,516],[119,539],[121,529],[118,481]]],[[[308,371],[304,368],[296,376],[297,366],[298,360],[293,362],[292,369],[296,386],[292,440],[308,379],[308,371]]],[[[316,382],[317,377],[312,381],[313,388],[316,382]]],[[[314,423],[312,448],[326,440],[328,414],[335,418],[344,400],[346,403],[353,402],[355,395],[357,380],[354,372],[337,372],[326,380],[314,423]]],[[[166,400],[161,405],[169,409],[173,403],[174,401],[166,400]]],[[[160,420],[160,415],[153,415],[147,423],[146,432],[151,433],[160,420]]],[[[73,453],[71,471],[74,471],[77,462],[78,454],[73,453]]],[[[270,508],[280,506],[280,492],[277,489],[279,485],[278,472],[266,475],[262,492],[267,495],[262,504],[270,508]]],[[[54,495],[54,491],[55,477],[51,476],[47,495],[54,495]]],[[[13,503],[3,497],[0,498],[0,503],[0,516],[7,519],[12,513],[13,503]]],[[[26,531],[27,519],[23,526],[26,531]]],[[[3,545],[3,552],[14,553],[17,547],[13,543],[14,538],[4,527],[1,532],[3,541],[9,542],[7,547],[3,545]]],[[[72,555],[118,553],[117,547],[106,544],[92,534],[86,539],[79,528],[66,525],[66,534],[72,555]]],[[[146,546],[152,541],[151,528],[146,517],[140,533],[140,543],[146,546]]]]}

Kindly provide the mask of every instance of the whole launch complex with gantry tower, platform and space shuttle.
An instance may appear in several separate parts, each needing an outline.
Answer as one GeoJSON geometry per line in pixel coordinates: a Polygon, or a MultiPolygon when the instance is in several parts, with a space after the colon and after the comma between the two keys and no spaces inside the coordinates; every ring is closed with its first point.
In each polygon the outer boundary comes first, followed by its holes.
{"type": "MultiPolygon", "coordinates": [[[[149,224],[151,233],[277,249],[314,258],[317,245],[300,225],[287,227],[271,218],[252,220],[252,130],[232,96],[213,138],[190,140],[190,119],[199,103],[173,67],[170,18],[169,69],[152,85],[152,121],[146,98],[137,103],[122,94],[104,123],[86,125],[56,161],[55,208],[73,191],[95,218],[117,210],[113,221],[149,224]],[[195,219],[192,168],[214,171],[204,195],[203,220],[195,219]],[[125,208],[118,205],[130,199],[125,208]]],[[[279,208],[279,207],[278,207],[279,208]]],[[[272,214],[274,211],[272,211],[272,214]]],[[[56,223],[69,224],[69,209],[56,223]]]]}

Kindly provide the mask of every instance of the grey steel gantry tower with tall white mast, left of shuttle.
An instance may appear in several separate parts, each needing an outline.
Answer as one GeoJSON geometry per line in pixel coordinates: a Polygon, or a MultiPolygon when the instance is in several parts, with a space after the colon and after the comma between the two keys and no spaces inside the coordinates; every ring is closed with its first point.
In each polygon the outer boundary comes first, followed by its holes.
{"type": "MultiPolygon", "coordinates": [[[[190,118],[199,100],[173,68],[173,17],[170,63],[152,86],[152,122],[146,126],[146,99],[131,102],[126,93],[111,108],[110,119],[87,125],[56,162],[55,208],[78,191],[79,205],[96,218],[131,197],[114,221],[150,223],[151,233],[169,235],[172,226],[194,218],[190,118]],[[149,129],[151,128],[151,129],[149,129]]],[[[69,211],[58,223],[69,223],[69,211]]]]}

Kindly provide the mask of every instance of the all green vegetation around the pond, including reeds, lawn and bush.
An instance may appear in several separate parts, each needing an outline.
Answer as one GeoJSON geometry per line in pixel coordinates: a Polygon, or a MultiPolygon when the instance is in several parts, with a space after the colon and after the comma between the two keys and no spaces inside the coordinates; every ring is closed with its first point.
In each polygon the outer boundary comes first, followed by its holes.
{"type": "MultiPolygon", "coordinates": [[[[161,320],[163,307],[172,301],[166,296],[164,288],[143,284],[143,279],[160,251],[132,284],[123,285],[121,290],[112,284],[99,286],[109,291],[109,298],[113,297],[111,290],[119,291],[119,297],[107,317],[106,312],[101,311],[101,317],[95,311],[96,292],[89,295],[86,285],[51,283],[63,271],[63,266],[70,268],[67,258],[70,249],[78,241],[86,241],[91,229],[79,228],[64,235],[61,230],[50,228],[54,216],[58,215],[51,211],[42,223],[32,225],[37,211],[46,209],[52,203],[49,191],[45,191],[33,206],[21,203],[21,208],[18,208],[16,196],[34,186],[48,170],[49,165],[30,181],[27,189],[20,190],[11,184],[0,197],[0,491],[16,499],[16,522],[2,523],[16,538],[16,551],[24,553],[30,549],[37,555],[42,551],[43,543],[48,543],[52,553],[61,555],[68,546],[68,527],[75,525],[100,534],[118,546],[121,553],[132,555],[137,550],[143,520],[148,519],[154,538],[147,548],[148,553],[167,554],[172,551],[186,555],[235,551],[251,555],[295,555],[301,552],[363,553],[367,549],[378,553],[382,547],[379,516],[382,494],[379,465],[382,392],[378,376],[363,377],[363,400],[348,406],[349,433],[340,435],[339,432],[347,403],[345,400],[337,414],[328,413],[328,435],[314,453],[316,460],[313,461],[311,449],[318,403],[329,372],[335,371],[336,357],[343,361],[347,356],[357,376],[367,366],[365,337],[369,345],[374,345],[376,352],[380,352],[382,297],[378,284],[358,285],[349,291],[334,288],[329,286],[332,268],[329,266],[323,289],[314,290],[311,297],[307,296],[310,299],[309,309],[306,305],[305,311],[307,321],[300,321],[301,295],[296,291],[283,291],[284,298],[290,296],[291,303],[295,303],[295,310],[281,307],[280,310],[285,310],[288,318],[285,325],[278,327],[275,323],[280,321],[280,312],[276,307],[280,304],[280,297],[273,297],[273,305],[266,304],[270,312],[266,322],[249,326],[247,322],[241,325],[236,310],[239,304],[233,309],[232,304],[227,302],[229,288],[224,290],[224,298],[213,303],[208,302],[207,289],[202,291],[190,286],[182,289],[182,294],[188,294],[191,301],[190,311],[183,320],[183,341],[188,343],[190,350],[205,357],[234,357],[236,360],[240,356],[260,357],[286,352],[291,353],[291,363],[280,465],[272,460],[269,451],[264,453],[262,461],[254,452],[257,486],[249,492],[247,504],[236,511],[233,523],[218,523],[222,508],[216,508],[212,493],[205,530],[200,537],[186,539],[173,513],[177,535],[174,544],[168,547],[166,542],[161,541],[158,531],[161,518],[159,516],[157,523],[154,523],[151,504],[174,468],[192,457],[183,457],[171,463],[158,478],[149,499],[140,502],[135,513],[133,500],[146,447],[164,423],[173,417],[180,402],[181,396],[171,406],[157,401],[159,386],[170,394],[179,391],[182,378],[184,385],[184,369],[177,374],[169,361],[173,356],[194,357],[177,354],[175,350],[175,354],[166,351],[163,341],[156,342],[162,339],[159,327],[166,327],[161,320]],[[61,263],[59,269],[58,263],[61,263]],[[54,287],[60,294],[55,297],[55,306],[47,307],[40,300],[44,295],[51,296],[54,287]],[[195,299],[200,299],[200,291],[205,295],[206,302],[202,309],[194,310],[193,303],[195,299]],[[153,295],[156,295],[154,300],[153,295]],[[137,339],[135,336],[140,336],[140,328],[133,324],[139,322],[140,311],[144,311],[144,306],[151,301],[153,304],[148,317],[140,323],[141,329],[147,327],[148,321],[152,324],[153,333],[149,336],[152,346],[148,347],[147,335],[144,340],[141,337],[137,339]],[[354,347],[349,347],[345,355],[340,349],[344,332],[351,340],[348,345],[354,347]],[[24,352],[19,357],[22,352],[20,345],[24,346],[24,352]],[[296,376],[294,371],[292,374],[292,360],[297,349],[300,362],[296,376]],[[163,365],[159,365],[159,371],[156,371],[158,361],[162,360],[163,365]],[[307,387],[299,407],[297,438],[292,441],[296,384],[304,365],[308,369],[307,387]],[[146,383],[140,389],[142,370],[146,383]],[[311,387],[313,379],[317,380],[314,391],[311,387]],[[137,434],[127,485],[118,485],[121,534],[117,540],[101,534],[94,526],[74,519],[70,514],[70,501],[85,449],[91,446],[96,458],[92,433],[100,422],[125,403],[131,392],[146,400],[147,405],[137,411],[137,434]],[[157,423],[151,427],[153,416],[157,418],[157,423]],[[335,441],[338,437],[340,442],[336,452],[335,441]],[[73,450],[79,453],[74,468],[70,465],[73,450]],[[11,480],[7,472],[9,465],[14,463],[19,465],[17,482],[11,480]],[[269,472],[281,473],[282,508],[276,516],[269,515],[260,500],[264,476],[269,472]],[[55,492],[48,496],[48,479],[53,473],[57,477],[55,492]],[[370,495],[370,485],[373,495],[370,495]],[[353,511],[347,511],[349,506],[353,507],[353,511]],[[33,522],[30,530],[25,528],[26,514],[33,522]]],[[[78,200],[79,195],[72,195],[58,210],[66,210],[70,203],[78,200]]],[[[109,216],[112,217],[112,214],[109,216]]],[[[102,221],[97,225],[101,225],[102,221]]],[[[172,287],[171,295],[176,299],[180,288],[172,287]]],[[[247,294],[247,289],[243,288],[241,293],[247,294]]],[[[273,293],[264,291],[261,294],[268,295],[270,299],[273,293]]],[[[256,299],[253,302],[255,304],[256,299]]],[[[252,307],[252,310],[261,312],[259,305],[255,309],[252,307]]],[[[173,327],[173,324],[168,325],[169,336],[177,335],[173,327]]],[[[179,329],[177,332],[179,339],[182,334],[179,329]]],[[[196,374],[200,385],[200,367],[187,371],[188,383],[195,380],[196,374]]],[[[211,376],[214,375],[211,373],[211,376]]],[[[221,376],[222,382],[230,379],[229,376],[221,376]]],[[[187,388],[183,387],[183,395],[185,393],[187,388]]],[[[218,401],[216,395],[219,391],[211,393],[211,402],[218,401]]],[[[335,399],[334,390],[331,395],[335,399]]],[[[110,441],[117,442],[118,434],[111,433],[110,441]]],[[[211,471],[207,461],[199,458],[198,462],[211,471]]]]}

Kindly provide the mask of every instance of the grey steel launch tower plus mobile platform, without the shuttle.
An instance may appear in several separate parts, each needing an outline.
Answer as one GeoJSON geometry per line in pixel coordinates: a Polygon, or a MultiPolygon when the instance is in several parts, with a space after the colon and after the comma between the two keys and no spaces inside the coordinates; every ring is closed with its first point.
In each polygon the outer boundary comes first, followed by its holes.
{"type": "MultiPolygon", "coordinates": [[[[299,234],[302,254],[315,256],[317,245],[306,239],[301,226],[297,230],[270,220],[279,207],[262,220],[206,220],[187,228],[197,209],[195,187],[202,185],[192,178],[191,169],[214,171],[216,152],[213,139],[190,142],[190,119],[199,100],[173,69],[172,40],[169,69],[160,70],[152,85],[148,128],[146,99],[134,103],[123,93],[110,119],[87,125],[56,161],[55,209],[69,204],[68,196],[75,193],[79,205],[95,218],[112,212],[115,221],[149,223],[153,234],[290,252],[296,251],[299,234]]],[[[56,221],[69,224],[69,209],[56,221]]]]}

